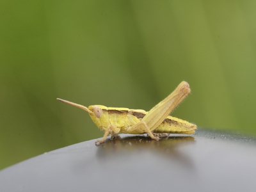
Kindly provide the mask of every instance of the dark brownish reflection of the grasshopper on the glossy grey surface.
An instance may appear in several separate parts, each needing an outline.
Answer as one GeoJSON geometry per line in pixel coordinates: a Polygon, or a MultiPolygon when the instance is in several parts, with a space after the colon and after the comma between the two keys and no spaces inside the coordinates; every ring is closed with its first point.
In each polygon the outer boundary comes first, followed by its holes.
{"type": "MultiPolygon", "coordinates": [[[[193,136],[170,136],[159,141],[152,140],[145,135],[119,134],[116,138],[109,138],[99,145],[97,158],[101,161],[110,161],[113,158],[126,159],[131,156],[143,156],[143,154],[154,154],[156,157],[172,159],[182,163],[184,166],[193,166],[187,154],[182,152],[182,146],[195,143],[193,136]]],[[[146,155],[147,156],[147,155],[146,155]]]]}

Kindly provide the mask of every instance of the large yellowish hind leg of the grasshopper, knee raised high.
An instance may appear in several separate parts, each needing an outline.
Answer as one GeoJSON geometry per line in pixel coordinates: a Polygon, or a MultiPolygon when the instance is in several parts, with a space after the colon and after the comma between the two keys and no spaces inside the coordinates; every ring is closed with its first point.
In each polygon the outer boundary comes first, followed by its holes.
{"type": "Polygon", "coordinates": [[[159,102],[154,108],[150,109],[140,122],[129,127],[127,131],[134,131],[139,127],[143,127],[145,132],[147,132],[153,140],[158,141],[159,137],[154,136],[152,131],[163,122],[166,116],[168,116],[189,93],[189,84],[186,81],[182,81],[168,97],[159,102]]]}

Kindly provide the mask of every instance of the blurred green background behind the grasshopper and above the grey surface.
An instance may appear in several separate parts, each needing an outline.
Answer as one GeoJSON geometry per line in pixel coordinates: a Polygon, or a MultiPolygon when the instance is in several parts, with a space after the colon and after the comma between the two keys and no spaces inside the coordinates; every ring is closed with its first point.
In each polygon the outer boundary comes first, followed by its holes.
{"type": "Polygon", "coordinates": [[[90,106],[256,134],[256,1],[0,1],[0,169],[103,133],[90,106]]]}

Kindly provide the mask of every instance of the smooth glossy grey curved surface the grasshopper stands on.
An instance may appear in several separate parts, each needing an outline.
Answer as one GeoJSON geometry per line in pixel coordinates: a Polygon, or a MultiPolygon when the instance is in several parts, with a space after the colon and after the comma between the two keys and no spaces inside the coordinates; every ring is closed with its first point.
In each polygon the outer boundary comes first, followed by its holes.
{"type": "Polygon", "coordinates": [[[255,191],[255,138],[199,129],[154,141],[121,134],[60,148],[0,172],[0,191],[255,191]]]}

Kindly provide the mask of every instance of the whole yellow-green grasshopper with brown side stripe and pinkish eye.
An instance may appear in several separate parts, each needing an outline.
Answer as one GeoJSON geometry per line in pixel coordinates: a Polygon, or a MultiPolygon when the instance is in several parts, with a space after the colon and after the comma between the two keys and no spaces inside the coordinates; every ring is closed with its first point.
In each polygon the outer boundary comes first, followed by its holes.
{"type": "Polygon", "coordinates": [[[189,84],[182,81],[168,97],[148,112],[142,109],[108,108],[100,105],[86,108],[67,100],[58,98],[57,100],[84,109],[89,113],[97,127],[105,132],[103,139],[97,140],[95,144],[104,143],[109,134],[115,136],[120,132],[129,134],[147,133],[152,139],[158,141],[158,136],[165,134],[192,134],[195,132],[195,124],[168,116],[189,93],[189,84]]]}

